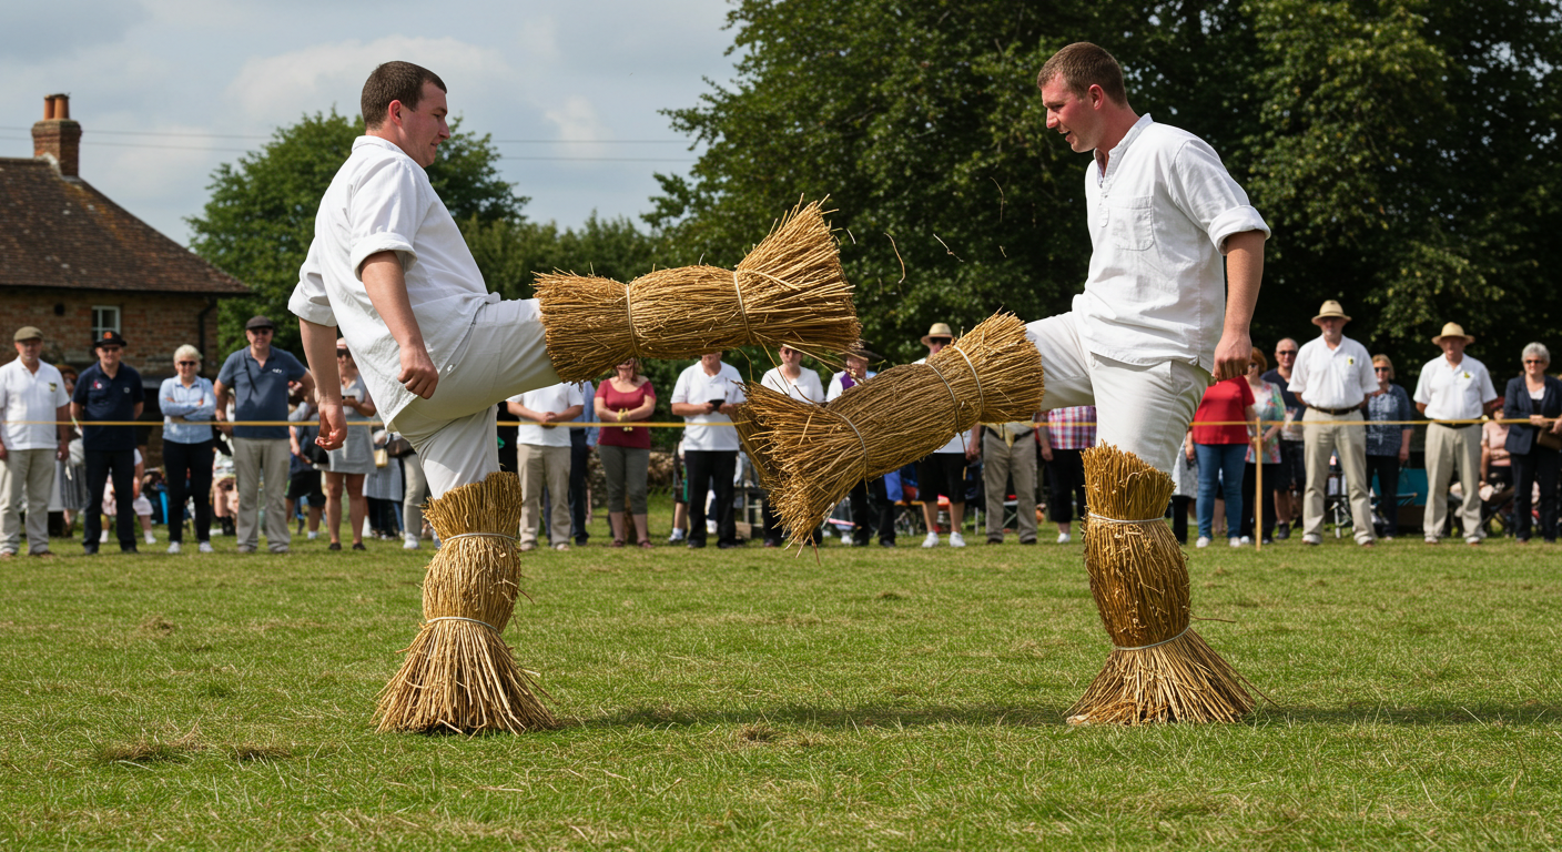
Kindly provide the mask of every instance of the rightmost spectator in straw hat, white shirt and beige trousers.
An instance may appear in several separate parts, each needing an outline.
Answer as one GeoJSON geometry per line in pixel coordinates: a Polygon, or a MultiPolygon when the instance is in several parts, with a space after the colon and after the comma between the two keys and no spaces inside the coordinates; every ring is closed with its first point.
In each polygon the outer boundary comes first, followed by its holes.
{"type": "Polygon", "coordinates": [[[1421,367],[1414,397],[1415,410],[1432,421],[1426,427],[1426,544],[1437,544],[1443,535],[1454,464],[1459,464],[1459,486],[1464,489],[1459,517],[1465,541],[1481,544],[1481,424],[1446,421],[1478,421],[1500,408],[1503,397],[1496,396],[1485,364],[1465,355],[1475,338],[1465,335],[1457,322],[1443,325],[1443,333],[1432,342],[1443,350],[1443,356],[1421,367]]]}

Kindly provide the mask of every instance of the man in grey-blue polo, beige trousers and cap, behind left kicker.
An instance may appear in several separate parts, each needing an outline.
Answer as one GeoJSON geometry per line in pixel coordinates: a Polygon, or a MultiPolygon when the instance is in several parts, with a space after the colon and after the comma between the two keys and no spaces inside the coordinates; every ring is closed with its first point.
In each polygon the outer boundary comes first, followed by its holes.
{"type": "Polygon", "coordinates": [[[287,383],[303,381],[305,399],[314,399],[314,378],[297,358],[272,349],[275,327],[264,316],[250,317],[244,336],[250,345],[228,355],[217,374],[217,424],[233,435],[233,467],[239,489],[239,552],[259,544],[259,491],[266,480],[266,547],[286,553],[287,530],[287,427],[228,425],[228,396],[234,397],[234,421],[287,421],[287,383]]]}

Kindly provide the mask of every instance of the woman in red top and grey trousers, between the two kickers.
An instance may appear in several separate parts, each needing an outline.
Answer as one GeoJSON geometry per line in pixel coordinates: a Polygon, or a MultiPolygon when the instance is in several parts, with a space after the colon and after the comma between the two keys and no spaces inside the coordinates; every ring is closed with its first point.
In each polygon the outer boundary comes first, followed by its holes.
{"type": "MultiPolygon", "coordinates": [[[[597,419],[604,424],[648,421],[656,410],[656,389],[639,372],[634,358],[614,367],[614,375],[597,388],[597,419]]],[[[650,547],[645,525],[645,477],[651,466],[651,430],[647,427],[604,425],[597,436],[597,455],[608,475],[608,522],[612,524],[612,546],[623,547],[623,496],[629,496],[629,514],[639,533],[640,547],[650,547]]]]}

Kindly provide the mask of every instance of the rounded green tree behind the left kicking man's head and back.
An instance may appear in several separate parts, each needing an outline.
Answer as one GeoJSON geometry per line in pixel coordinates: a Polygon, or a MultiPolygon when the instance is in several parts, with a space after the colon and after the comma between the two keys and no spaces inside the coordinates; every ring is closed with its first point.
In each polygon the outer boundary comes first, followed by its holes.
{"type": "MultiPolygon", "coordinates": [[[[276,130],[259,152],[212,172],[211,200],[200,216],[187,219],[191,249],[255,291],[223,300],[217,324],[223,352],[244,345],[244,322],[255,314],[272,317],[276,344],[298,352],[287,297],[314,239],[320,197],[362,133],[362,119],[334,109],[316,113],[276,130]]],[[[526,199],[500,180],[497,161],[487,134],[462,133],[461,120],[451,122],[451,138],[440,145],[428,178],[458,220],[473,227],[522,220],[526,199]]]]}

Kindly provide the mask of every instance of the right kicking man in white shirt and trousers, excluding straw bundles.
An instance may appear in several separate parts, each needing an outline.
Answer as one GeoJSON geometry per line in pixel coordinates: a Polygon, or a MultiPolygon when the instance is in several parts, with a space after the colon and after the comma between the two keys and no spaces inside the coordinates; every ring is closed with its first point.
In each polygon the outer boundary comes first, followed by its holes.
{"type": "Polygon", "coordinates": [[[1090,270],[1073,311],[1028,325],[1047,408],[1098,405],[1098,441],[1176,463],[1214,378],[1245,375],[1268,225],[1196,136],[1129,108],[1117,59],[1072,44],[1036,80],[1086,169],[1090,270]]]}

